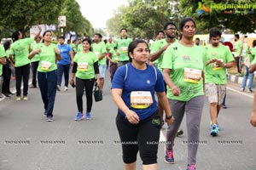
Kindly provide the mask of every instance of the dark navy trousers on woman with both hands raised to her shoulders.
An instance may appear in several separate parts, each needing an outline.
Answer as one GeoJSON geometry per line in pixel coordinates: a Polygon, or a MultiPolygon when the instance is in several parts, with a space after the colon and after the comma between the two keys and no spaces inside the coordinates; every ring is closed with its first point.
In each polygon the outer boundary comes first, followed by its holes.
{"type": "Polygon", "coordinates": [[[55,105],[55,95],[57,88],[57,71],[40,72],[38,71],[38,85],[44,102],[44,110],[47,116],[52,117],[55,105]]]}

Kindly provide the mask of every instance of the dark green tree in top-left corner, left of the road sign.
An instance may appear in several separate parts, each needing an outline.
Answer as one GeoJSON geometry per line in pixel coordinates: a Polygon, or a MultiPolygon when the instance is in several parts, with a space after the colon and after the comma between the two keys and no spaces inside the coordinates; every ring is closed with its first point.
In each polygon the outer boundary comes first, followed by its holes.
{"type": "Polygon", "coordinates": [[[0,25],[9,31],[20,29],[28,36],[33,25],[57,24],[63,2],[65,0],[1,0],[0,25]]]}

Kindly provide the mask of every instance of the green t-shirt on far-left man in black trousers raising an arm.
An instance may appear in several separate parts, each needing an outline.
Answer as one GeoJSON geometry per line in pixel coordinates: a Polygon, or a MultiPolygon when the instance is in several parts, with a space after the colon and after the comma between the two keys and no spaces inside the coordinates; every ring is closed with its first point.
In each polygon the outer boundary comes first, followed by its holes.
{"type": "Polygon", "coordinates": [[[27,65],[30,63],[30,59],[28,59],[29,54],[29,44],[34,42],[33,37],[24,38],[15,41],[11,46],[10,54],[15,57],[15,67],[19,67],[22,65],[27,65]]]}

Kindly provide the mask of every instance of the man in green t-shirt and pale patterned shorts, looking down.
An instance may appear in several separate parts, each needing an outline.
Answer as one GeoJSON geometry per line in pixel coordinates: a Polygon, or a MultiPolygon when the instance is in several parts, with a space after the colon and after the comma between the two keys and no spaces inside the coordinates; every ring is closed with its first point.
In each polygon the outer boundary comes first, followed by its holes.
{"type": "Polygon", "coordinates": [[[210,103],[210,116],[212,120],[211,135],[218,135],[217,117],[220,111],[226,89],[226,68],[233,66],[233,55],[230,49],[219,43],[221,31],[211,28],[210,42],[207,45],[207,67],[205,68],[206,95],[210,103]]]}

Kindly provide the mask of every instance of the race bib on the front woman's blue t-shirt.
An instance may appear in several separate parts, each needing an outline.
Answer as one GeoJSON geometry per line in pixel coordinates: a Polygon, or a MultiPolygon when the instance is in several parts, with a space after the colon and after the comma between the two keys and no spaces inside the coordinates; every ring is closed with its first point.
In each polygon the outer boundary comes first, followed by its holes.
{"type": "Polygon", "coordinates": [[[148,91],[131,92],[131,107],[135,109],[146,109],[153,104],[152,95],[148,91]]]}

